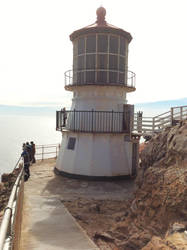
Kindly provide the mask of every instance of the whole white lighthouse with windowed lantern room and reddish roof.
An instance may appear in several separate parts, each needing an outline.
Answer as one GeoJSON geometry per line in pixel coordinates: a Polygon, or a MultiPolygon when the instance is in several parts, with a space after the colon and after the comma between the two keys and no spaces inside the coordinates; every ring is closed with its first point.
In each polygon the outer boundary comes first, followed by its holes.
{"type": "Polygon", "coordinates": [[[73,92],[70,110],[56,112],[62,142],[55,172],[83,179],[135,176],[139,136],[133,134],[135,74],[128,70],[130,33],[105,20],[70,35],[73,68],[65,72],[65,89],[73,92]]]}

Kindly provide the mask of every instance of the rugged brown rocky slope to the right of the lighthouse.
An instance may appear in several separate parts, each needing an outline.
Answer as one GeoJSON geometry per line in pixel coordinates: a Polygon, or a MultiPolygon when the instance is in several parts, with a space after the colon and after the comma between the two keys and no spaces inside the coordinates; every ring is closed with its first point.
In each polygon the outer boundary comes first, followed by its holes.
{"type": "Polygon", "coordinates": [[[118,249],[187,249],[187,121],[155,135],[140,153],[135,199],[113,232],[118,249]]]}

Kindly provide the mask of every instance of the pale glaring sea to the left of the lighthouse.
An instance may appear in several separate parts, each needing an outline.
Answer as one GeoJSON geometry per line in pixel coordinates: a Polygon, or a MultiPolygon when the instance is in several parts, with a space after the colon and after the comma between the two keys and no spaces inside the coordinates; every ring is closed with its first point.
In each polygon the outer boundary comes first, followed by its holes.
{"type": "Polygon", "coordinates": [[[0,115],[0,175],[10,172],[22,153],[23,142],[34,141],[36,145],[61,142],[56,131],[55,114],[0,115]]]}

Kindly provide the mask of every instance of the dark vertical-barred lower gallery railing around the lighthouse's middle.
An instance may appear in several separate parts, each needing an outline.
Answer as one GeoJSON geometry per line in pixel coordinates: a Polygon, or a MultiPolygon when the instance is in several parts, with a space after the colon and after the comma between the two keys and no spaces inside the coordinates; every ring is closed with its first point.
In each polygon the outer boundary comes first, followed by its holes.
{"type": "Polygon", "coordinates": [[[57,111],[56,130],[87,133],[130,133],[129,112],[116,111],[57,111]]]}

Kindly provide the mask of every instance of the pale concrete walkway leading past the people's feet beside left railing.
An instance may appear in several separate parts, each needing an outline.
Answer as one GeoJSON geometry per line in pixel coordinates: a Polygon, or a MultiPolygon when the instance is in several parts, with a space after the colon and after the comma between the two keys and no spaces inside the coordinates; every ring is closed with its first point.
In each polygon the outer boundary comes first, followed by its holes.
{"type": "Polygon", "coordinates": [[[31,177],[24,186],[20,249],[98,249],[56,193],[54,165],[54,160],[47,160],[31,167],[31,177]],[[46,188],[49,185],[50,189],[46,188]]]}

